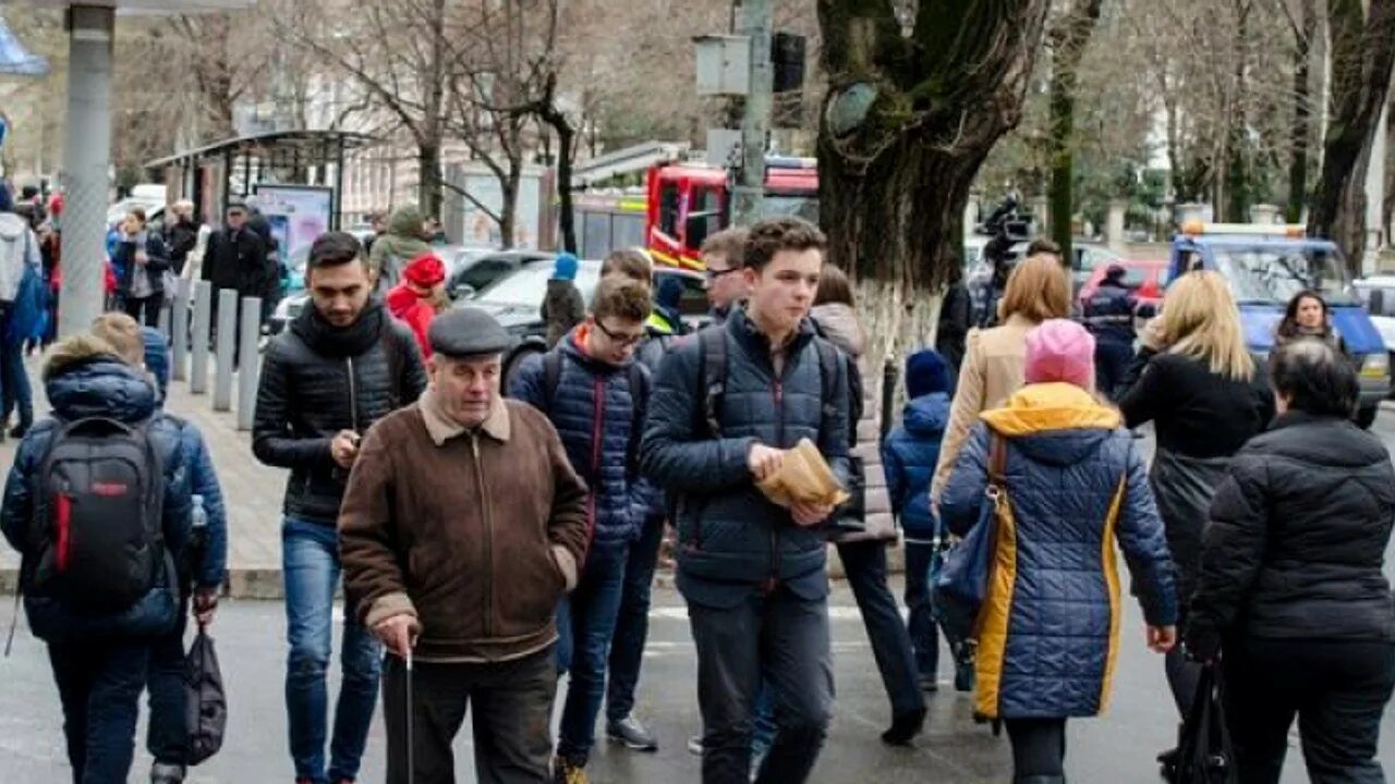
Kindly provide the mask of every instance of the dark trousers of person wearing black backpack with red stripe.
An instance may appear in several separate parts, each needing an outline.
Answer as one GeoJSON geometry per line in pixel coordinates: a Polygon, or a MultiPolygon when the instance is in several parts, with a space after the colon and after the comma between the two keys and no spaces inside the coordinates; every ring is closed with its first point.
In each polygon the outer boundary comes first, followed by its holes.
{"type": "Polygon", "coordinates": [[[49,646],[73,784],[126,784],[149,656],[149,640],[49,646]]]}

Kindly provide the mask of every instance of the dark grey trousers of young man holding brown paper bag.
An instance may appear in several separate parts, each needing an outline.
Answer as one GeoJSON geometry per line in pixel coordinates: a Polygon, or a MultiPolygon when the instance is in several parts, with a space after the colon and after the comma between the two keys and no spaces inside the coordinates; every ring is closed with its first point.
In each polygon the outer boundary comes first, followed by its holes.
{"type": "Polygon", "coordinates": [[[833,711],[829,603],[788,587],[752,587],[735,607],[688,604],[698,647],[703,784],[748,784],[762,678],[774,698],[774,744],[760,784],[801,784],[817,762],[833,711]]]}

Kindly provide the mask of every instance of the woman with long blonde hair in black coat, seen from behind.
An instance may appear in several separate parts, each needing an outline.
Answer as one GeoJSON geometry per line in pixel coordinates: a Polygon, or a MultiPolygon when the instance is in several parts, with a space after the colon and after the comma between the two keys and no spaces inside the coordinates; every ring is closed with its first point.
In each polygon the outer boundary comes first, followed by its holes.
{"type": "MultiPolygon", "coordinates": [[[[1141,372],[1119,409],[1131,428],[1154,423],[1158,449],[1149,478],[1177,565],[1184,626],[1211,497],[1230,458],[1274,417],[1274,396],[1246,349],[1230,287],[1215,272],[1179,278],[1143,339],[1141,372]]],[[[1168,654],[1168,682],[1183,716],[1198,672],[1180,650],[1168,654]]],[[[1159,762],[1166,766],[1172,757],[1165,752],[1159,762]]]]}

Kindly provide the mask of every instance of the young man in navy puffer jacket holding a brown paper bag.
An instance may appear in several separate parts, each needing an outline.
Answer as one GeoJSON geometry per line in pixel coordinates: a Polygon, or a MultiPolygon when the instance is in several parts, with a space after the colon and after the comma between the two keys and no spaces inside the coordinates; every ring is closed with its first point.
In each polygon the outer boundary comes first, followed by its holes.
{"type": "Polygon", "coordinates": [[[762,679],[774,692],[774,744],[756,781],[813,770],[833,709],[824,532],[831,506],[767,501],[808,438],[847,487],[847,360],[815,333],[824,237],[797,218],[751,229],[746,310],[675,346],[650,398],[644,474],[677,498],[678,589],[698,646],[703,783],[745,784],[762,679]],[[824,357],[833,352],[831,361],[824,357]],[[836,378],[824,378],[824,367],[836,378]]]}

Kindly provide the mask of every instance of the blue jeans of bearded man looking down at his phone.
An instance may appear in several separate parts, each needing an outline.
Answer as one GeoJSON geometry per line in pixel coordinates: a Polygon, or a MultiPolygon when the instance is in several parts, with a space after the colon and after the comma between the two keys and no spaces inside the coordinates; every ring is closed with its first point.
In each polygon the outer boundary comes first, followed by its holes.
{"type": "Polygon", "coordinates": [[[378,700],[381,650],[345,608],[340,643],[343,684],[335,707],[335,734],[325,774],[325,730],[329,710],[331,638],[335,587],[339,585],[339,534],[333,526],[287,516],[282,527],[282,564],[286,573],[286,714],[290,724],[290,756],[296,776],[315,784],[357,778],[378,700]]]}

